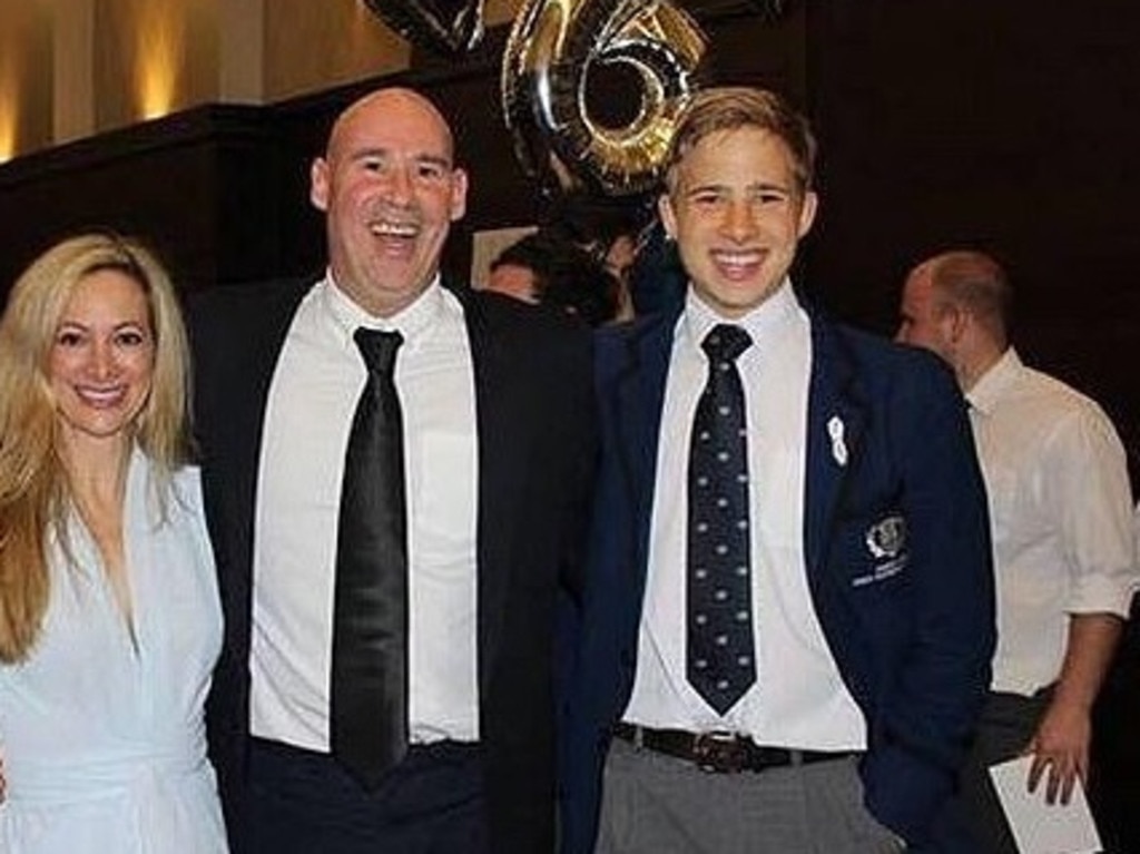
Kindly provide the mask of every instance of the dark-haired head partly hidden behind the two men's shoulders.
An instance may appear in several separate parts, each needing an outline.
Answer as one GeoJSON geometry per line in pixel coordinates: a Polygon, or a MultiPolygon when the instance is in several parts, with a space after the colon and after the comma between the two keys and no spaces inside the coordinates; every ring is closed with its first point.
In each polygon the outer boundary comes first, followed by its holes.
{"type": "Polygon", "coordinates": [[[481,290],[577,315],[591,326],[613,319],[618,283],[588,252],[563,235],[536,231],[491,261],[481,290]]]}

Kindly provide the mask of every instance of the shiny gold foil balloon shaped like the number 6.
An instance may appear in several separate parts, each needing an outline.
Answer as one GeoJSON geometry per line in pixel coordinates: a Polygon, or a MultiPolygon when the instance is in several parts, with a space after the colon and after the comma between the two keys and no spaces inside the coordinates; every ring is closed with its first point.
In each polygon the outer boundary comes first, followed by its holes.
{"type": "Polygon", "coordinates": [[[667,0],[527,0],[503,57],[503,114],[527,172],[562,190],[652,188],[706,39],[667,0]],[[624,128],[593,121],[591,70],[626,65],[641,107],[624,128]]]}

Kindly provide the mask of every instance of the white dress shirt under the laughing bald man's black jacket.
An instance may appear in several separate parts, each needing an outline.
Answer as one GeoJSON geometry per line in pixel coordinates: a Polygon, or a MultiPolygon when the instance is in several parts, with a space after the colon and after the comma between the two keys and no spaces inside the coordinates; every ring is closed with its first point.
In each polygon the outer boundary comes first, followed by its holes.
{"type": "Polygon", "coordinates": [[[358,326],[404,335],[396,385],[407,472],[412,740],[475,740],[475,392],[463,308],[435,282],[400,314],[377,319],[331,276],[301,302],[266,406],[251,731],[328,750],[341,480],[367,379],[352,340],[358,326]]]}

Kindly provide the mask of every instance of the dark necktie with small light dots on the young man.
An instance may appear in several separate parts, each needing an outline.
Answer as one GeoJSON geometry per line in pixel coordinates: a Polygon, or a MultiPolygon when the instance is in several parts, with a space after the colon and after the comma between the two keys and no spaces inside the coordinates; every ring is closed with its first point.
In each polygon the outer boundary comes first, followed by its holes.
{"type": "Polygon", "coordinates": [[[709,375],[697,404],[689,453],[685,672],[719,715],[756,682],[748,441],[735,364],[751,343],[744,330],[725,324],[701,342],[709,375]]]}

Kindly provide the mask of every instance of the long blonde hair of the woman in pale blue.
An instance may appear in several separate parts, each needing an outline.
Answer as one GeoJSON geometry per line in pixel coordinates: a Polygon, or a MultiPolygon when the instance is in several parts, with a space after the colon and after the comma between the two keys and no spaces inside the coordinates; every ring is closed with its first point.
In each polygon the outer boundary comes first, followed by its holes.
{"type": "Polygon", "coordinates": [[[39,636],[50,583],[47,543],[68,514],[51,348],[76,284],[116,270],[142,287],[155,339],[150,393],[135,439],[163,491],[189,456],[189,352],[170,276],[137,241],[84,234],[56,244],[16,282],[0,320],[0,661],[25,659],[39,636]]]}

